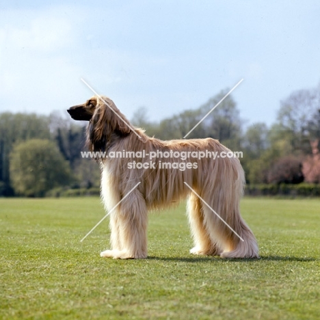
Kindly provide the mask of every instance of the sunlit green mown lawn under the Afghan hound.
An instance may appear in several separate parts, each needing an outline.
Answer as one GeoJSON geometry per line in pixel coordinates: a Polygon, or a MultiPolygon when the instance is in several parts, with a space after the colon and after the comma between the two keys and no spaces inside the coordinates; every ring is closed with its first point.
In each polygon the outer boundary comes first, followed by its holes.
{"type": "Polygon", "coordinates": [[[0,319],[319,319],[320,200],[245,198],[258,260],[189,255],[183,204],[150,215],[149,258],[100,258],[98,198],[0,199],[0,319]]]}

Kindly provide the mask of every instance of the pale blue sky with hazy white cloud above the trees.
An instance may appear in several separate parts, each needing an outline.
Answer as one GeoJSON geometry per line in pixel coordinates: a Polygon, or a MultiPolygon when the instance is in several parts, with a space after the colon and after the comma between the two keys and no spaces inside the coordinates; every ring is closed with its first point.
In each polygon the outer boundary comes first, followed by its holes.
{"type": "MultiPolygon", "coordinates": [[[[1,1],[0,112],[109,96],[158,121],[231,89],[245,124],[320,83],[320,2],[1,1]]],[[[214,111],[211,114],[214,118],[214,111]]]]}

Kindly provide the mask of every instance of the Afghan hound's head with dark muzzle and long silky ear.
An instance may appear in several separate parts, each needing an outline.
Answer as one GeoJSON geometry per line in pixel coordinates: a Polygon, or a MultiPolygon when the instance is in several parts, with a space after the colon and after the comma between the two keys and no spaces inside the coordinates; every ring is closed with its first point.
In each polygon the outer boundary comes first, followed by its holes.
{"type": "Polygon", "coordinates": [[[90,150],[104,151],[112,140],[126,137],[131,132],[129,120],[105,96],[93,96],[83,105],[75,105],[67,111],[74,120],[89,121],[87,145],[90,150]]]}

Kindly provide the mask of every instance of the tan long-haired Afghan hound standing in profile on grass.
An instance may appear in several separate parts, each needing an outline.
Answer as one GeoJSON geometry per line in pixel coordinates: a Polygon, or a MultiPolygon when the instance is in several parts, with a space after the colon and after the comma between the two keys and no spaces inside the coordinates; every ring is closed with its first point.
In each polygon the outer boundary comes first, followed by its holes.
{"type": "MultiPolygon", "coordinates": [[[[187,212],[194,239],[191,254],[258,257],[256,239],[239,212],[245,183],[239,159],[192,159],[191,168],[189,165],[185,170],[180,170],[185,168],[185,163],[182,164],[185,161],[161,154],[167,152],[168,155],[171,151],[189,152],[190,155],[190,152],[200,150],[219,154],[230,151],[228,148],[211,138],[161,141],[148,137],[142,129],[133,127],[114,102],[105,96],[92,97],[83,105],[70,107],[68,113],[75,120],[89,121],[87,144],[90,151],[107,152],[109,155],[111,152],[121,155],[130,151],[132,156],[98,159],[102,172],[101,198],[105,209],[110,211],[123,199],[110,213],[111,250],[101,252],[101,256],[146,258],[148,210],[161,209],[188,197],[187,212]],[[149,167],[141,168],[140,165],[139,169],[134,168],[134,161],[144,161],[137,157],[142,150],[146,155],[158,152],[160,156],[149,167]],[[163,162],[167,163],[166,167],[163,162]],[[139,185],[131,191],[137,183],[139,185]],[[129,191],[131,193],[127,196],[129,191]]],[[[144,162],[150,162],[146,158],[144,162]]]]}

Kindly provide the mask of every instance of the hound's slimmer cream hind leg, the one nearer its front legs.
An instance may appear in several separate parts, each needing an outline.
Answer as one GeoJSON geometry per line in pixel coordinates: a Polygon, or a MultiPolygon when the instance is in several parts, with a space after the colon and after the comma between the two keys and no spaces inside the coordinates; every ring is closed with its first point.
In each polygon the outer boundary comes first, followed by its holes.
{"type": "Polygon", "coordinates": [[[204,224],[203,207],[200,199],[195,194],[190,194],[187,202],[187,213],[191,234],[194,239],[194,248],[190,250],[191,254],[207,254],[215,256],[221,250],[211,241],[209,232],[204,224]]]}

